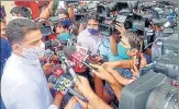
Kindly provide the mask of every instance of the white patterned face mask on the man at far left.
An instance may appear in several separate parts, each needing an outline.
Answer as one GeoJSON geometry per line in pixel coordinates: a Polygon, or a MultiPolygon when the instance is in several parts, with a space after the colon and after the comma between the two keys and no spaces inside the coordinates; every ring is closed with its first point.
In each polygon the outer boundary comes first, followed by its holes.
{"type": "Polygon", "coordinates": [[[23,49],[23,51],[21,52],[21,55],[24,58],[30,59],[30,60],[40,59],[45,55],[45,44],[44,43],[40,47],[22,48],[22,49],[23,49]]]}

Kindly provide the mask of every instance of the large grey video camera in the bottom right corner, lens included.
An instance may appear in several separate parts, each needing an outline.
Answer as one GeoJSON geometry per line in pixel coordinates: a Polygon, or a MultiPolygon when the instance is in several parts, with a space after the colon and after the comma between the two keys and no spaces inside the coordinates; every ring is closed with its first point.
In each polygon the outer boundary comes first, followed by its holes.
{"type": "Polygon", "coordinates": [[[149,71],[122,90],[119,109],[178,109],[177,88],[165,74],[149,71]]]}

